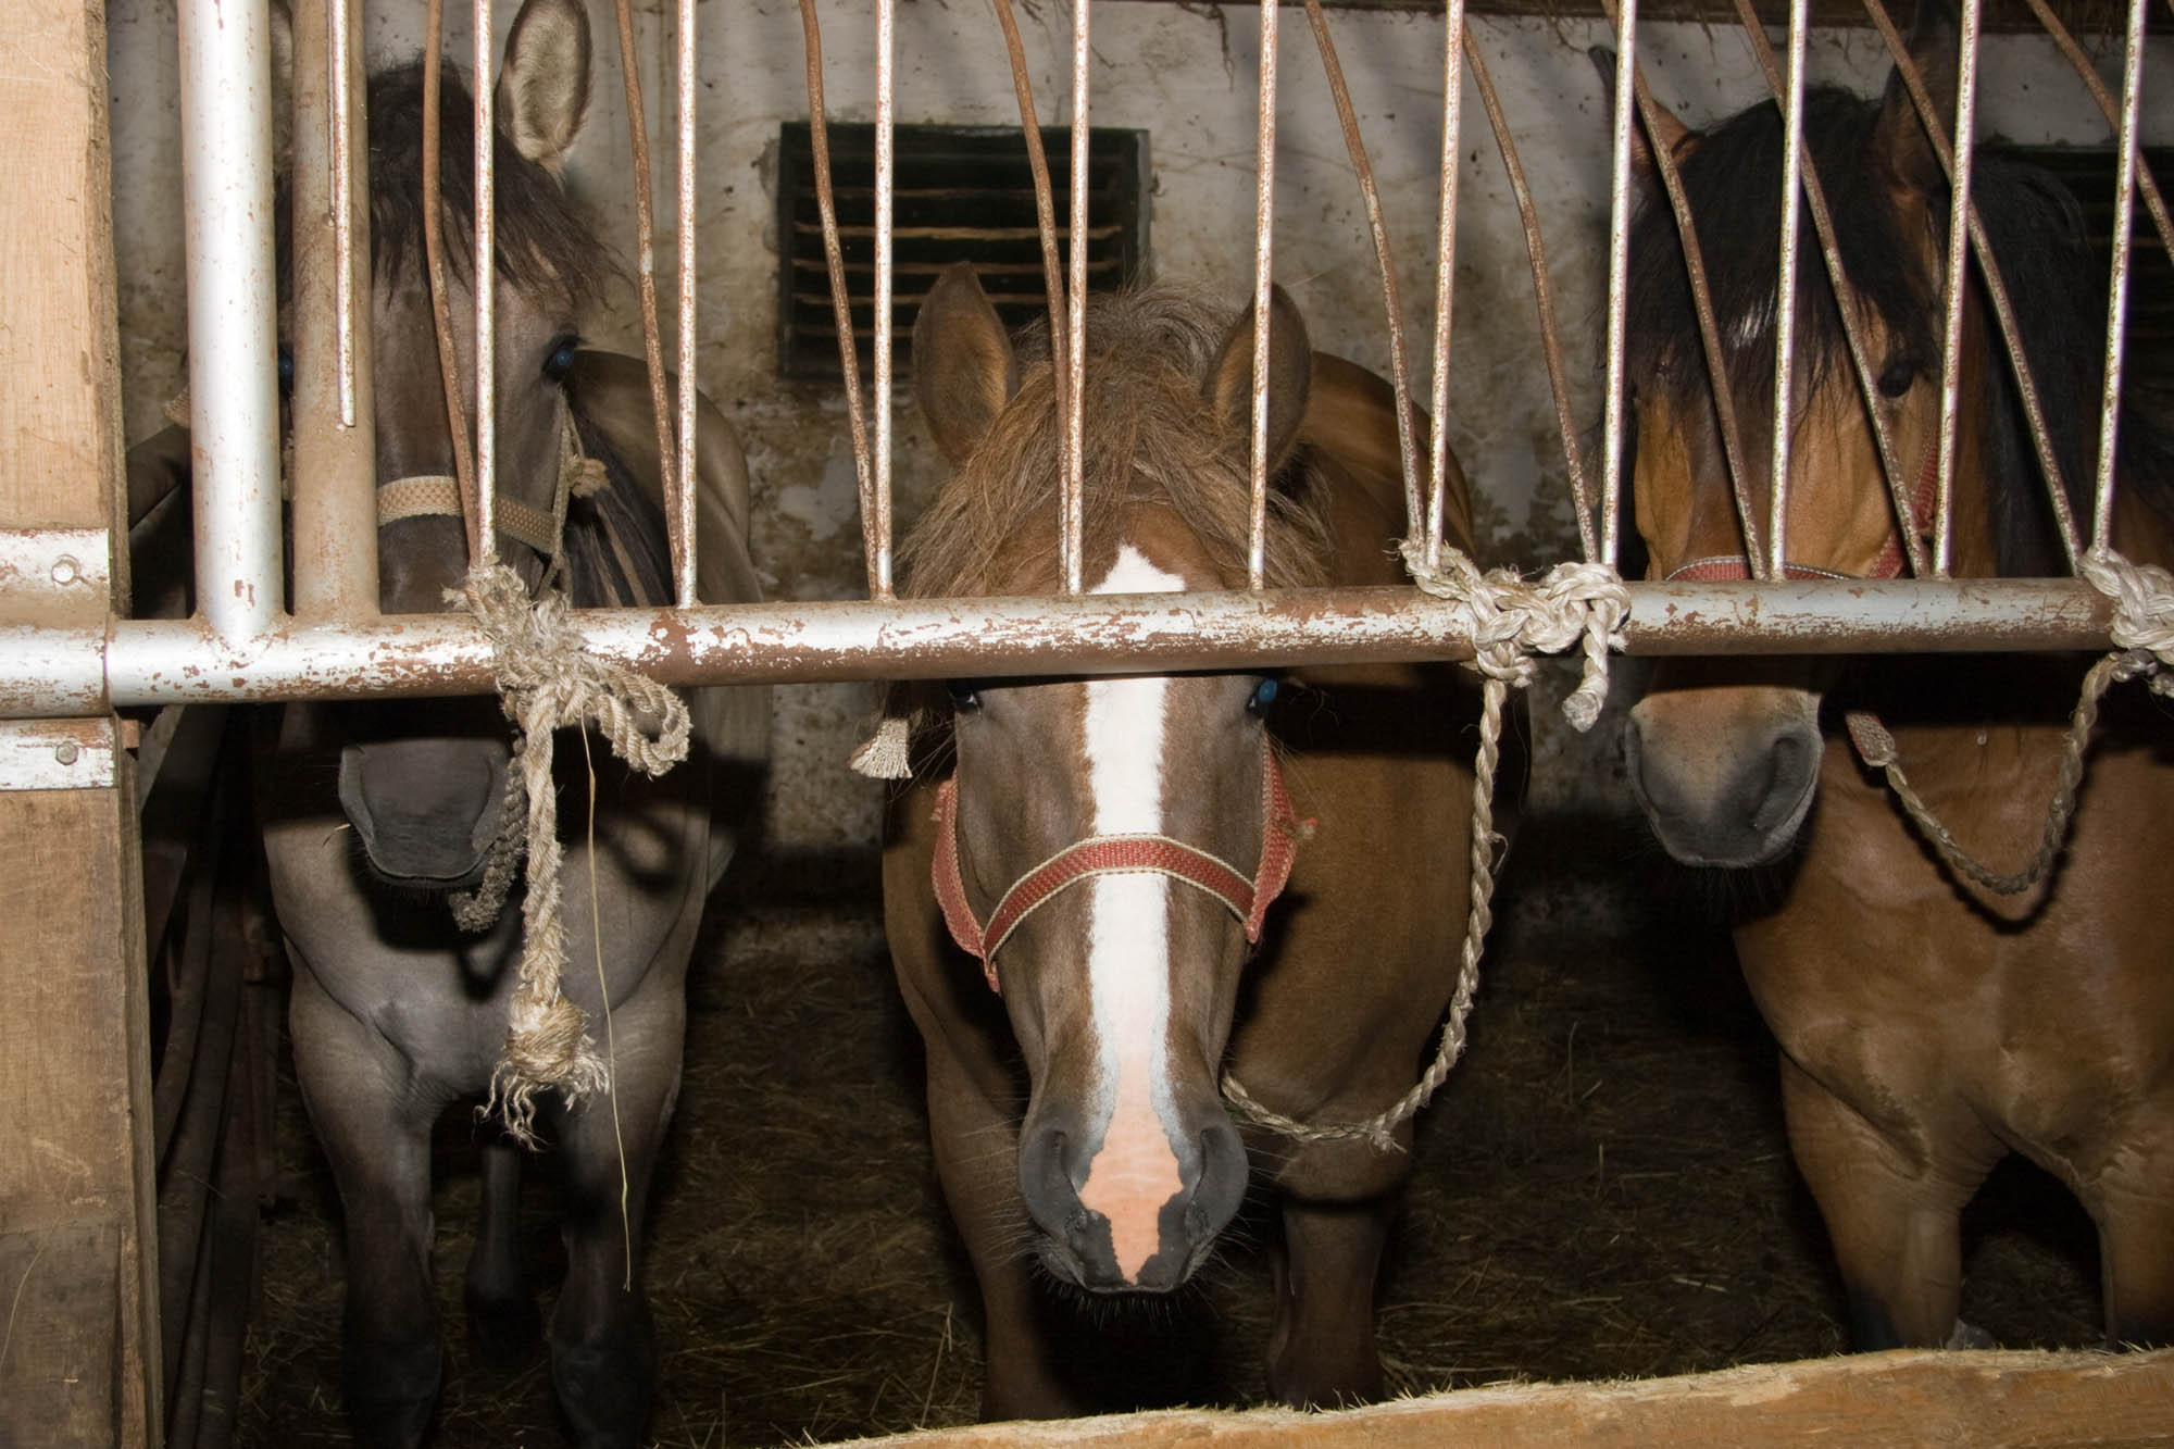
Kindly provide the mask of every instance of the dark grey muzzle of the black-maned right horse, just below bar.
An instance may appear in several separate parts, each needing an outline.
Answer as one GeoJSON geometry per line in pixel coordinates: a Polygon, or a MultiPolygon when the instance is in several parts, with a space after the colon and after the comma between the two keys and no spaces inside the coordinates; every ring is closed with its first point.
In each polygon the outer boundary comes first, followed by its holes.
{"type": "Polygon", "coordinates": [[[1663,849],[1689,866],[1763,866],[1781,857],[1820,783],[1820,733],[1767,718],[1687,748],[1687,720],[1659,725],[1644,707],[1624,727],[1630,788],[1663,849]]]}

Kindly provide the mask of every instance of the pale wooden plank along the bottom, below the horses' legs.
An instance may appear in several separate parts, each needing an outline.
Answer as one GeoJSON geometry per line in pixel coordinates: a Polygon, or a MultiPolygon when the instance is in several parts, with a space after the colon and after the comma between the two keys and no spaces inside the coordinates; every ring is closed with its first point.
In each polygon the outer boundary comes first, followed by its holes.
{"type": "Polygon", "coordinates": [[[2174,1349],[1896,1351],[1624,1384],[1511,1384],[1333,1414],[1165,1410],[859,1440],[898,1449],[2170,1445],[2174,1349]]]}

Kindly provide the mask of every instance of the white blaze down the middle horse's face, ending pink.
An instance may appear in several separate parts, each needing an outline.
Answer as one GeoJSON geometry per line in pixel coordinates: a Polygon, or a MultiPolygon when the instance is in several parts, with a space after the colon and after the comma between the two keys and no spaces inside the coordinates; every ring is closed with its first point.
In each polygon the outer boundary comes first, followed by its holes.
{"type": "MultiPolygon", "coordinates": [[[[1094,594],[1170,594],[1185,587],[1130,544],[1094,594]]],[[[1096,835],[1163,831],[1167,679],[1087,685],[1087,783],[1096,835]]],[[[1157,1112],[1170,1101],[1170,879],[1102,875],[1087,881],[1087,992],[1100,1051],[1102,1149],[1087,1164],[1080,1203],[1109,1218],[1117,1271],[1137,1279],[1161,1240],[1163,1203],[1180,1190],[1178,1157],[1157,1112]]]]}

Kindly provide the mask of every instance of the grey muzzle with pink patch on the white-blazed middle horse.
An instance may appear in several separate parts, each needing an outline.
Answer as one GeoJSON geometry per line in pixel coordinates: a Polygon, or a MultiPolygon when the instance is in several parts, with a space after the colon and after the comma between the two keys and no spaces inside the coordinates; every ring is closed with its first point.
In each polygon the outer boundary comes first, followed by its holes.
{"type": "Polygon", "coordinates": [[[1111,1162],[1061,1120],[1022,1134],[1020,1192],[1052,1266],[1091,1292],[1170,1292],[1191,1277],[1246,1197],[1246,1144],[1215,1107],[1165,1153],[1161,1168],[1111,1162]]]}

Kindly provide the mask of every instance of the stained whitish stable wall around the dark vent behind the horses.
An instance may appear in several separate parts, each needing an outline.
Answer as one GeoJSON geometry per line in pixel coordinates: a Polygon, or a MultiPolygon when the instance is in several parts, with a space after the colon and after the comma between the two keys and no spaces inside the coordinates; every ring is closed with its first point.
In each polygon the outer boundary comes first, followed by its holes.
{"type": "MultiPolygon", "coordinates": [[[[465,7],[448,15],[448,46],[470,54],[465,7]]],[[[517,11],[498,2],[500,35],[517,11]]],[[[637,0],[637,50],[657,148],[659,259],[676,257],[672,20],[637,0]]],[[[370,59],[420,48],[422,7],[367,4],[370,59]]],[[[826,0],[833,120],[874,120],[874,20],[865,2],[826,0]]],[[[630,165],[611,7],[591,0],[596,100],[567,183],[620,257],[633,255],[630,165]]],[[[1070,115],[1070,7],[1022,4],[1044,120],[1070,115]]],[[[1430,246],[1435,226],[1441,22],[1430,15],[1330,13],[1398,248],[1407,326],[1426,385],[1430,246]]],[[[1607,44],[1587,20],[1474,20],[1515,126],[1548,235],[1578,426],[1598,420],[1607,248],[1607,109],[1585,48],[1607,44]]],[[[1254,94],[1259,20],[1250,7],[1109,2],[1094,9],[1094,117],[1150,133],[1150,257],[1157,276],[1187,281],[1237,305],[1250,294],[1254,94]]],[[[807,117],[800,15],[794,0],[711,0],[700,7],[702,91],[696,215],[700,239],[702,385],[739,426],[757,490],[754,557],[776,598],[863,592],[854,474],[841,398],[774,376],[776,133],[807,117]]],[[[1380,283],[1357,185],[1313,41],[1298,9],[1283,13],[1276,276],[1307,313],[1315,346],[1387,370],[1380,283]]],[[[1657,96],[1702,124],[1763,96],[1744,39],[1731,28],[1648,24],[1641,57],[1657,96]]],[[[2174,46],[2154,41],[2152,72],[2174,46]]],[[[1815,78],[1874,89],[1887,72],[1870,30],[1813,37],[1815,78]]],[[[180,383],[183,287],[178,139],[174,133],[172,0],[113,0],[111,89],[115,215],[128,426],[157,426],[180,383]]],[[[2102,74],[2117,89],[2117,48],[2102,74]]],[[[2174,141],[2174,87],[2146,91],[2146,139],[2174,141]]],[[[2107,126],[2046,41],[1991,37],[1983,50],[1985,128],[2031,144],[2104,144],[2107,126]]],[[[898,13],[898,120],[1015,124],[1004,46],[978,0],[904,0],[898,13]]],[[[1574,550],[1565,468],[1533,326],[1524,235],[1485,115],[1467,85],[1457,228],[1450,437],[1480,496],[1483,544],[1537,564],[1574,550]]],[[[594,318],[594,342],[639,352],[630,294],[594,318]]],[[[667,318],[667,357],[672,355],[667,318]]],[[[896,479],[900,516],[933,483],[933,455],[900,396],[896,479]]],[[[778,690],[772,840],[850,846],[874,838],[878,792],[844,770],[867,725],[865,685],[778,690]]],[[[1548,731],[1552,733],[1552,731],[1548,731]]],[[[1594,751],[1565,764],[1594,764],[1594,751]]]]}

